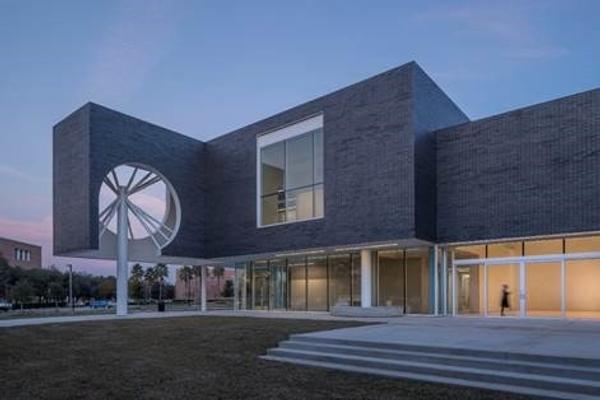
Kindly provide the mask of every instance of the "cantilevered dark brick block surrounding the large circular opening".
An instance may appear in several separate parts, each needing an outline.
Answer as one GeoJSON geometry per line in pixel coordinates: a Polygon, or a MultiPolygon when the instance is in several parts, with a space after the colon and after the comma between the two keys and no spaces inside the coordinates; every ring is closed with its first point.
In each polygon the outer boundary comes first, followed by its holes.
{"type": "Polygon", "coordinates": [[[182,208],[164,255],[198,257],[206,221],[204,144],[89,103],[54,128],[54,252],[98,248],[98,199],[114,167],[140,163],[171,182],[182,208]]]}

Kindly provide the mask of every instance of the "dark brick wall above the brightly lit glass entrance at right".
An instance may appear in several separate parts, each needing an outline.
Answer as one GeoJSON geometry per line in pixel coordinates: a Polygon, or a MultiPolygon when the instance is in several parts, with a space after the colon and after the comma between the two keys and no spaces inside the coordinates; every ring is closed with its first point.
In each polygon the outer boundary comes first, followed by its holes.
{"type": "Polygon", "coordinates": [[[438,241],[600,230],[600,90],[436,137],[438,241]]]}

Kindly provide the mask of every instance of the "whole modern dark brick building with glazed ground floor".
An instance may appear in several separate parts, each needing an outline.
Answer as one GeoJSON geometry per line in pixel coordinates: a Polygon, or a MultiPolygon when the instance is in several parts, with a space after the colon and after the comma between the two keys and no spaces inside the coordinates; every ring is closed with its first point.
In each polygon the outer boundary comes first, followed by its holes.
{"type": "Polygon", "coordinates": [[[414,62],[207,142],[93,103],[54,127],[55,254],[222,263],[240,308],[600,316],[599,199],[600,90],[470,121],[414,62]]]}

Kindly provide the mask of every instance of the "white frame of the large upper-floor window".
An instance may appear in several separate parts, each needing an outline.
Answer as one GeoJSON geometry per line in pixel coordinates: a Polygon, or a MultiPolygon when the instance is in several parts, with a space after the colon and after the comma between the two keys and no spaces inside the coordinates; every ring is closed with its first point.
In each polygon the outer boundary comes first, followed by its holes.
{"type": "MultiPolygon", "coordinates": [[[[292,221],[277,222],[274,224],[263,225],[262,224],[262,203],[261,203],[261,188],[262,188],[262,173],[261,173],[261,160],[260,153],[263,147],[270,146],[275,143],[283,142],[285,140],[294,138],[296,136],[303,135],[315,129],[323,129],[323,114],[317,114],[314,116],[307,117],[303,120],[293,122],[284,127],[277,128],[272,131],[265,132],[259,135],[256,139],[256,227],[257,228],[269,228],[272,226],[294,224],[298,222],[314,221],[316,219],[322,219],[325,217],[325,204],[323,204],[323,215],[319,217],[312,217],[306,219],[297,219],[292,221]]],[[[324,145],[324,144],[323,144],[324,145]]],[[[325,164],[325,155],[323,151],[323,164],[325,164]]],[[[313,161],[314,162],[314,161],[313,161]]],[[[325,184],[323,183],[323,190],[325,190],[325,184]]],[[[314,196],[314,194],[313,194],[314,196]]],[[[325,200],[323,199],[323,203],[325,200]]]]}

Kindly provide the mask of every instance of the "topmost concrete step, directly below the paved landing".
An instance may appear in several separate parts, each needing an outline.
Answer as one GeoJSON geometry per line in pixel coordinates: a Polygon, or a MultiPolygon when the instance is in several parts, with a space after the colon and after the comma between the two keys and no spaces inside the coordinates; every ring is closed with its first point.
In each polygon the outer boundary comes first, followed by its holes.
{"type": "Polygon", "coordinates": [[[598,368],[600,369],[600,359],[594,358],[582,358],[582,357],[563,357],[553,356],[544,354],[533,354],[533,353],[515,353],[499,350],[481,350],[473,348],[459,348],[459,347],[442,347],[442,346],[430,346],[412,343],[386,343],[386,342],[372,342],[363,340],[348,340],[348,339],[336,339],[336,338],[325,338],[310,335],[291,335],[290,342],[308,342],[317,344],[332,344],[332,345],[343,345],[343,346],[356,346],[365,348],[374,348],[379,350],[392,350],[392,351],[409,351],[409,352],[420,352],[428,354],[439,354],[439,355],[454,355],[462,357],[478,357],[486,359],[498,359],[505,361],[523,361],[540,364],[557,364],[562,366],[572,367],[583,367],[583,368],[598,368]]]}

